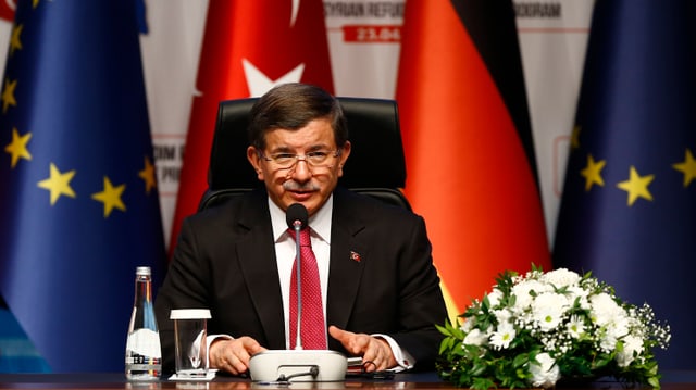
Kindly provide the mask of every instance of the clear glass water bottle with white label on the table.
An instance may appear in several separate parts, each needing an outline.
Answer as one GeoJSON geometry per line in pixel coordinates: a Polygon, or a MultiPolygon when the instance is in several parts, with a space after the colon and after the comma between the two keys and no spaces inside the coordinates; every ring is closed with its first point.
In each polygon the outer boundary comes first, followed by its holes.
{"type": "Polygon", "coordinates": [[[150,267],[137,267],[135,301],[126,341],[126,378],[128,380],[159,380],[162,372],[160,332],[152,307],[150,267]]]}

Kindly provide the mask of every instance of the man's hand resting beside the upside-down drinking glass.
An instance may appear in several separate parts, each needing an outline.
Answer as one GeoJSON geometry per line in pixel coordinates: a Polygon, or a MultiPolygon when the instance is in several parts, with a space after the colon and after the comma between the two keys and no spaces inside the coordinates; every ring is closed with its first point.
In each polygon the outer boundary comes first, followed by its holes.
{"type": "Polygon", "coordinates": [[[247,336],[238,339],[217,339],[210,344],[208,351],[210,368],[240,375],[249,369],[251,355],[265,350],[257,340],[247,336]]]}

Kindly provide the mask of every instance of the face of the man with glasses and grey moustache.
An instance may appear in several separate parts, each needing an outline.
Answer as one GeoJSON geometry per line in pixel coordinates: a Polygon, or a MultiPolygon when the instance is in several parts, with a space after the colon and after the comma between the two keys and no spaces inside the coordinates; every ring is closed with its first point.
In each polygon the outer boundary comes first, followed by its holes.
{"type": "Polygon", "coordinates": [[[325,118],[313,119],[297,130],[271,130],[265,135],[265,150],[247,149],[247,158],[259,180],[265,183],[271,200],[282,210],[301,203],[309,215],[331,196],[349,154],[350,142],[338,149],[331,122],[325,118]]]}

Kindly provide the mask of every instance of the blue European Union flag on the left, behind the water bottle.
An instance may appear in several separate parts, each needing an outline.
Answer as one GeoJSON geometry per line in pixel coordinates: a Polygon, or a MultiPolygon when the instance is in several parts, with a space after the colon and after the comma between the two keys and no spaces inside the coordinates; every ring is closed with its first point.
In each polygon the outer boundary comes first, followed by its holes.
{"type": "Polygon", "coordinates": [[[20,1],[0,96],[0,289],[53,372],[124,369],[165,264],[135,1],[20,1]]]}

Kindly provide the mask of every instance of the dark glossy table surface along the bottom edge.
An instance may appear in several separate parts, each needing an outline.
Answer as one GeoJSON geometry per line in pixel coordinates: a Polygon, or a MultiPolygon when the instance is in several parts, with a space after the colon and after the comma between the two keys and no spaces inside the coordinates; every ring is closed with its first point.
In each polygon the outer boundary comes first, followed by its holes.
{"type": "MultiPolygon", "coordinates": [[[[696,372],[662,373],[662,390],[696,389],[696,372]]],[[[599,381],[568,389],[625,389],[622,383],[599,381]]],[[[636,386],[636,388],[641,388],[636,386]]],[[[643,387],[645,388],[645,387],[643,387]]],[[[447,390],[456,389],[451,383],[442,381],[435,373],[397,374],[394,379],[374,380],[347,377],[338,382],[294,382],[287,385],[262,385],[249,379],[217,376],[212,381],[173,381],[162,379],[154,382],[127,381],[123,373],[86,374],[0,374],[0,389],[182,389],[182,390],[247,390],[247,389],[381,389],[381,390],[447,390]]]]}

